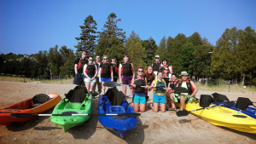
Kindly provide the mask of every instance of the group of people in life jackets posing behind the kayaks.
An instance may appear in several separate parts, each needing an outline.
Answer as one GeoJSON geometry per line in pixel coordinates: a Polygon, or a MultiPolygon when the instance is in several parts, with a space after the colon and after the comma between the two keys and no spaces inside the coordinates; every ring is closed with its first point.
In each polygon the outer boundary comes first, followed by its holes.
{"type": "MultiPolygon", "coordinates": [[[[160,56],[155,55],[154,64],[148,66],[147,70],[143,67],[137,68],[137,76],[134,72],[129,56],[124,55],[123,61],[118,64],[115,57],[108,62],[108,55],[96,55],[96,60],[92,56],[86,57],[86,51],[82,56],[74,61],[75,78],[73,84],[85,85],[90,94],[95,93],[96,85],[98,92],[105,94],[106,87],[103,85],[107,81],[130,85],[132,96],[131,106],[135,112],[145,112],[147,109],[148,91],[154,93],[153,105],[149,107],[153,112],[166,112],[167,110],[176,110],[175,102],[180,102],[180,111],[183,111],[185,102],[192,101],[193,95],[198,91],[194,82],[188,76],[188,72],[181,72],[181,80],[177,80],[177,74],[172,72],[172,66],[167,65],[167,60],[160,62],[160,56]],[[175,87],[188,89],[187,93],[176,94],[175,87]]],[[[123,86],[123,93],[126,95],[127,86],[123,86]]]]}

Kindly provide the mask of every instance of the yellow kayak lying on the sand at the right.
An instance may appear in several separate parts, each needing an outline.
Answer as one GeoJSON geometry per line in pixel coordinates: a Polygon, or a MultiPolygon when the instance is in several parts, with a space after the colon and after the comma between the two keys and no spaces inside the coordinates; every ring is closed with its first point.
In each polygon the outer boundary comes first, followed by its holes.
{"type": "MultiPolygon", "coordinates": [[[[180,103],[176,103],[180,107],[180,103]]],[[[237,112],[227,107],[212,107],[191,112],[195,116],[204,119],[208,123],[224,126],[233,130],[256,134],[256,119],[247,116],[242,112],[237,112]]],[[[195,99],[191,103],[186,103],[184,109],[192,111],[200,107],[199,101],[195,99]]]]}

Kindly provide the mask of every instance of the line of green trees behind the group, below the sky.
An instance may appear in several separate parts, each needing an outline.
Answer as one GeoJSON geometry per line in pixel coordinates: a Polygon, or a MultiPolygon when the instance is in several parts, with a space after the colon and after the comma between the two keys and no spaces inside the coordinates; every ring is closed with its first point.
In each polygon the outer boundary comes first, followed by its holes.
{"type": "Polygon", "coordinates": [[[187,71],[195,78],[224,78],[235,84],[256,85],[256,34],[250,26],[245,30],[238,30],[236,26],[227,28],[215,46],[198,32],[189,37],[183,33],[163,37],[157,45],[152,37],[142,40],[136,32],[125,37],[125,32],[118,26],[119,21],[121,19],[116,14],[109,14],[102,31],[98,32],[96,20],[89,15],[84,19],[84,25],[79,26],[81,33],[75,37],[78,40],[75,53],[65,45],[61,48],[55,45],[49,51],[30,55],[37,62],[15,60],[22,55],[1,54],[0,71],[27,77],[74,75],[73,61],[86,50],[94,57],[108,55],[110,60],[115,56],[119,62],[127,54],[135,69],[138,66],[147,68],[154,62],[154,55],[160,55],[160,60],[166,59],[175,73],[187,71]]]}

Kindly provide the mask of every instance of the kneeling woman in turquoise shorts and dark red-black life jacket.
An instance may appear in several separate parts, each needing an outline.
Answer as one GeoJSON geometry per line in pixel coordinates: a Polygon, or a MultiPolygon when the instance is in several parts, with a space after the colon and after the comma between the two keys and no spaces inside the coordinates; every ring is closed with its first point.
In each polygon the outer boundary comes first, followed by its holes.
{"type": "Polygon", "coordinates": [[[148,89],[147,78],[143,77],[143,68],[138,67],[137,77],[131,80],[131,89],[133,88],[133,96],[131,102],[133,103],[133,109],[135,112],[145,112],[146,108],[146,93],[145,89],[148,89]],[[141,86],[146,86],[142,88],[141,86]]]}

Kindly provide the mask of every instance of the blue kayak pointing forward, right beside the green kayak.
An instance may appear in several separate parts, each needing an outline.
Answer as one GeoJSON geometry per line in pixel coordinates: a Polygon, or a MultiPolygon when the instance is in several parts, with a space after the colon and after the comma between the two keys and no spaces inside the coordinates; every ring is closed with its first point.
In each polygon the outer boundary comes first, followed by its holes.
{"type": "MultiPolygon", "coordinates": [[[[135,113],[133,108],[123,99],[121,106],[112,106],[107,95],[101,95],[98,106],[99,114],[135,113]]],[[[137,127],[137,118],[126,116],[98,116],[100,123],[107,129],[118,133],[122,138],[137,127]]]]}

